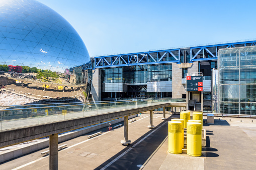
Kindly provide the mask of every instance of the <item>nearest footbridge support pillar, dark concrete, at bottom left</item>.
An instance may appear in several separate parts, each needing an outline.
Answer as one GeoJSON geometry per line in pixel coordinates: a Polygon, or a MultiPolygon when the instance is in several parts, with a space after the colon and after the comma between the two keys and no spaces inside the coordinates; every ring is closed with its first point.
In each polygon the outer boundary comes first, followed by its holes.
{"type": "Polygon", "coordinates": [[[58,169],[58,134],[50,135],[50,170],[58,169]]]}

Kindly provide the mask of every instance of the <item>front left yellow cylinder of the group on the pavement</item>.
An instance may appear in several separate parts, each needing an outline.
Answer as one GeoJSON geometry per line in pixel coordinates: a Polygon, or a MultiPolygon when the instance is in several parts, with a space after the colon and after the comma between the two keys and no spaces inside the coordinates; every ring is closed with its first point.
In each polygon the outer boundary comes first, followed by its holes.
{"type": "Polygon", "coordinates": [[[182,122],[168,121],[168,151],[170,153],[182,153],[182,122]]]}

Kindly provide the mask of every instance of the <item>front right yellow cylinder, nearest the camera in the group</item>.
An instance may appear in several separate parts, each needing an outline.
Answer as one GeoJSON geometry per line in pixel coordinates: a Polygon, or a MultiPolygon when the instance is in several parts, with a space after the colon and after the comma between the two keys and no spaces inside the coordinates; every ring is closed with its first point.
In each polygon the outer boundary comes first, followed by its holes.
{"type": "Polygon", "coordinates": [[[187,154],[191,156],[202,155],[202,128],[201,123],[187,123],[187,154]]]}

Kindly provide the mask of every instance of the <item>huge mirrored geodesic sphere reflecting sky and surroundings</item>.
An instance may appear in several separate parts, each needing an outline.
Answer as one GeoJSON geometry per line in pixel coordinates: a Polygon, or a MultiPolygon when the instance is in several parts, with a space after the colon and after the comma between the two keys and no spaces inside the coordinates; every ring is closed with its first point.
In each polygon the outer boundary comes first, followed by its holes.
{"type": "Polygon", "coordinates": [[[87,101],[92,64],[74,28],[30,0],[0,1],[0,104],[87,101]]]}

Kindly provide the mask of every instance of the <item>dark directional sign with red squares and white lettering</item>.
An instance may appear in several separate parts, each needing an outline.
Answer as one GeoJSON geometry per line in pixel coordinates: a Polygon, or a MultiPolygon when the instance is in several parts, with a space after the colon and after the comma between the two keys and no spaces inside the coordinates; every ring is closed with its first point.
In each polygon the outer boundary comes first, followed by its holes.
{"type": "Polygon", "coordinates": [[[187,76],[187,91],[203,91],[203,76],[187,76]]]}

